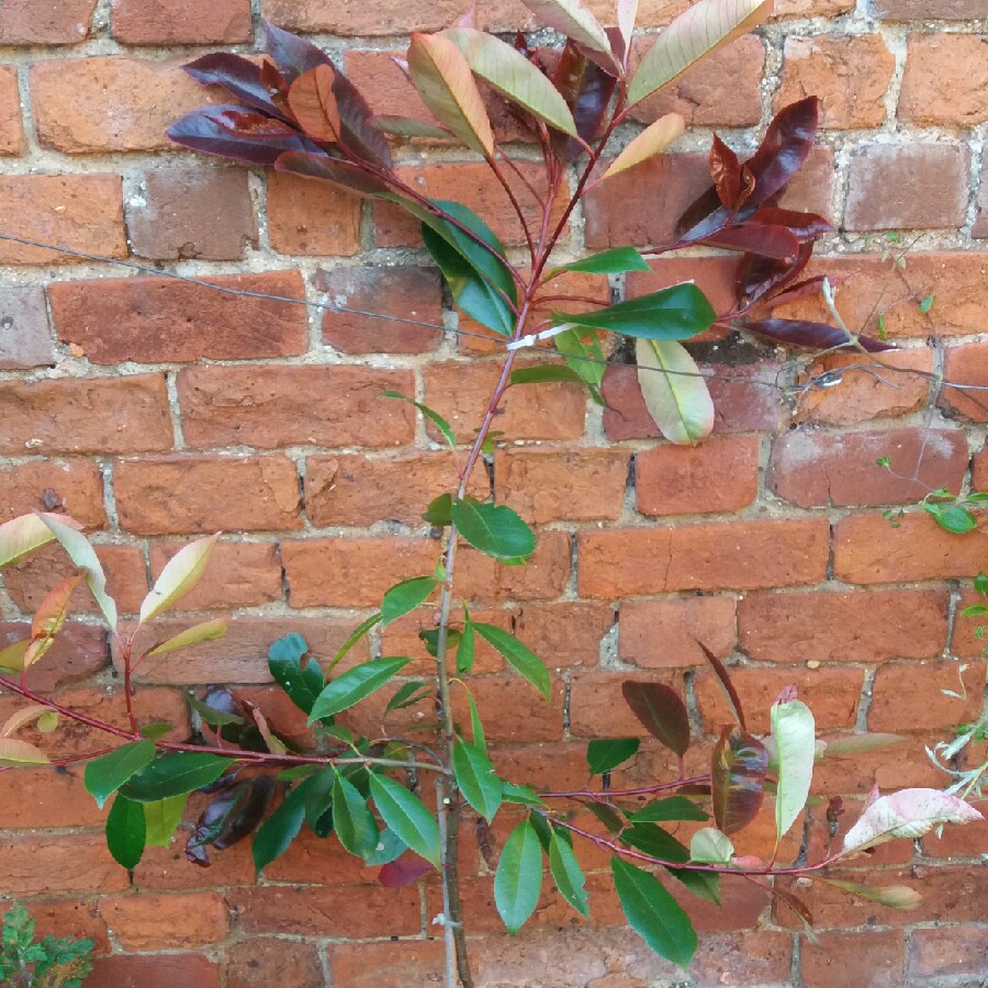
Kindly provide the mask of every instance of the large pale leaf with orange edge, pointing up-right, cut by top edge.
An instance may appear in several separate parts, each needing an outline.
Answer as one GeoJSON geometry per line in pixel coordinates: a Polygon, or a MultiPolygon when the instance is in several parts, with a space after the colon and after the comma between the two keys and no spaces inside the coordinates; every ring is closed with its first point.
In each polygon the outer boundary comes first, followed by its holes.
{"type": "Polygon", "coordinates": [[[701,58],[746,34],[772,13],[772,0],[699,0],[659,35],[631,79],[635,104],[677,79],[701,58]]]}

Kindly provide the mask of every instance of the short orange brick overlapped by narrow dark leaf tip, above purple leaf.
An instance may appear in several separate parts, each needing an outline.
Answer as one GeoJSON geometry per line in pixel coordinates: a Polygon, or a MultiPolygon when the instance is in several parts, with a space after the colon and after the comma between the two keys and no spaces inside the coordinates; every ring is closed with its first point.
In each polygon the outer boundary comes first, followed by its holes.
{"type": "Polygon", "coordinates": [[[734,649],[733,597],[670,597],[621,604],[618,654],[622,662],[655,669],[703,665],[698,642],[719,659],[734,649]]]}

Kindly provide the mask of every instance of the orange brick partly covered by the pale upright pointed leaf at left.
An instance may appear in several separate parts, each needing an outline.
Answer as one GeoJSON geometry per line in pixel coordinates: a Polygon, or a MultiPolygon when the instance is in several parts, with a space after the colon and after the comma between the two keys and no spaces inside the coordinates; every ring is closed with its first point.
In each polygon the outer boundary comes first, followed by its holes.
{"type": "MultiPolygon", "coordinates": [[[[186,542],[154,542],[150,547],[151,577],[186,542]]],[[[217,542],[209,569],[200,583],[182,597],[182,610],[217,607],[250,607],[280,600],[281,561],[273,542],[217,542]]]]}

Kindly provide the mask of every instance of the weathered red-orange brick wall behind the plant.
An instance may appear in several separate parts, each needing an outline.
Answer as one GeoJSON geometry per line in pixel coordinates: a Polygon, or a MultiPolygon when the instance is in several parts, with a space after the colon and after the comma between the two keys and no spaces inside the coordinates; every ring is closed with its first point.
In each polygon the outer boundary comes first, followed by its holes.
{"type": "MultiPolygon", "coordinates": [[[[197,46],[256,50],[261,13],[328,45],[375,109],[424,113],[386,53],[462,5],[0,3],[0,233],[451,326],[405,217],[289,176],[216,166],[169,146],[165,128],[207,96],[178,66],[201,54],[197,46]]],[[[609,3],[592,5],[608,16],[609,3]]],[[[684,5],[643,2],[640,22],[661,27],[684,5]]],[[[489,29],[531,26],[510,0],[479,7],[489,29]]],[[[673,154],[592,194],[569,249],[662,242],[705,184],[711,128],[751,148],[774,108],[816,93],[819,148],[788,198],[841,227],[816,269],[843,278],[840,304],[855,328],[874,330],[883,316],[902,345],[890,360],[988,384],[985,32],[986,0],[779,0],[766,27],[642,106],[640,123],[675,110],[691,131],[673,154]],[[902,232],[894,249],[910,245],[903,268],[882,259],[888,229],[902,232]],[[917,299],[931,293],[924,314],[917,299]]],[[[483,209],[519,242],[483,169],[456,154],[415,153],[406,170],[483,209]]],[[[388,585],[431,566],[436,543],[418,515],[449,483],[448,461],[407,406],[378,395],[417,394],[469,435],[496,373],[482,340],[324,316],[9,240],[0,240],[0,518],[64,503],[93,532],[125,614],[190,536],[236,534],[189,599],[190,608],[233,608],[232,632],[148,664],[138,703],[154,719],[186,723],[181,687],[195,684],[236,684],[240,696],[268,700],[270,641],[300,631],[325,653],[388,585]]],[[[627,291],[684,274],[716,296],[730,266],[662,260],[629,278],[627,291]]],[[[789,311],[816,313],[810,303],[789,311]]],[[[988,486],[985,405],[976,392],[938,391],[909,373],[850,369],[837,386],[798,386],[856,362],[847,358],[807,369],[723,344],[707,356],[717,430],[697,449],[658,440],[630,369],[608,371],[603,413],[569,384],[509,394],[493,487],[540,526],[539,549],[529,568],[512,571],[464,553],[459,588],[494,619],[513,617],[554,672],[547,707],[493,653],[479,654],[475,693],[496,761],[519,781],[582,784],[588,738],[639,730],[619,701],[628,670],[686,691],[695,727],[707,732],[691,757],[706,757],[725,711],[697,636],[738,661],[736,683],[753,708],[766,710],[795,683],[826,736],[909,736],[901,748],[821,766],[818,790],[846,794],[849,816],[873,779],[943,785],[923,744],[963,717],[940,693],[956,684],[955,660],[968,662],[974,688],[984,682],[981,644],[957,611],[972,577],[988,569],[985,535],[951,537],[916,514],[892,528],[883,512],[942,483],[988,486]],[[875,467],[883,456],[890,471],[875,467]]],[[[56,559],[42,553],[8,575],[8,638],[65,572],[56,559]]],[[[396,624],[378,647],[416,648],[414,631],[396,624]]],[[[92,600],[38,667],[37,685],[122,715],[92,600]]],[[[11,706],[0,699],[0,716],[11,706]]],[[[283,705],[271,718],[299,729],[283,705]]],[[[67,734],[58,743],[70,754],[89,742],[67,734]]],[[[645,744],[621,779],[641,785],[670,768],[645,744]]],[[[306,839],[262,882],[244,845],[203,871],[184,862],[179,842],[148,852],[128,876],[110,860],[100,822],[76,768],[0,773],[0,888],[29,900],[44,930],[93,936],[101,988],[438,979],[441,948],[427,924],[440,909],[434,885],[383,889],[334,845],[306,839]]],[[[754,832],[745,850],[770,841],[754,832]]],[[[820,810],[806,821],[806,841],[811,854],[826,841],[820,810]]],[[[782,857],[798,850],[790,841],[782,857]]],[[[913,985],[941,975],[973,984],[988,970],[981,853],[988,832],[972,827],[868,860],[862,875],[922,878],[916,912],[813,888],[819,946],[753,886],[726,883],[723,910],[696,910],[693,974],[711,985],[913,985]]],[[[592,923],[577,924],[547,886],[530,928],[508,939],[491,873],[469,841],[462,867],[483,984],[626,988],[675,977],[624,928],[603,876],[590,882],[592,923]]]]}

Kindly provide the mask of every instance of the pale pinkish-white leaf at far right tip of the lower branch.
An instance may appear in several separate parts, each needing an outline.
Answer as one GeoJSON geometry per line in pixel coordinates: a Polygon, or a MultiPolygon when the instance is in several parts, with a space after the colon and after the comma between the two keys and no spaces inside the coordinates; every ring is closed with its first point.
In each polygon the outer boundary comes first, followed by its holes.
{"type": "Polygon", "coordinates": [[[969,804],[939,789],[900,789],[880,796],[844,837],[844,854],[899,838],[922,837],[943,823],[970,823],[984,817],[969,804]]]}

